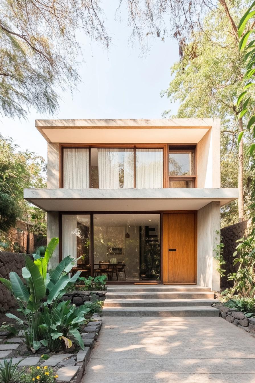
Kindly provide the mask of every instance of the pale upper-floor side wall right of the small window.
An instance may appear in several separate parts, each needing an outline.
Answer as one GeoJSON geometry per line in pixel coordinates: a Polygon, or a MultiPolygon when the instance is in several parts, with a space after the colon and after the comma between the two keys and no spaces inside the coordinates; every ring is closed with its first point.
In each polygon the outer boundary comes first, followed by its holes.
{"type": "Polygon", "coordinates": [[[221,187],[219,119],[197,144],[197,187],[221,187]]]}

